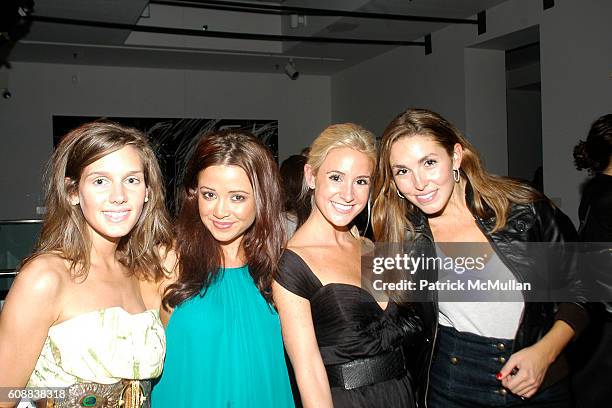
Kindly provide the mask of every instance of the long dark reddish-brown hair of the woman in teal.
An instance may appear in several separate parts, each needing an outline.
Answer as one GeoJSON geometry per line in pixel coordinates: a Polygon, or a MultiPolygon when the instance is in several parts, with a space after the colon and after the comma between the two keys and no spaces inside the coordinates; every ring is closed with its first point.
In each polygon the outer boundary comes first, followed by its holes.
{"type": "Polygon", "coordinates": [[[246,131],[223,130],[204,135],[187,163],[176,222],[179,275],[163,299],[174,308],[197,294],[204,296],[224,264],[221,245],[202,223],[198,211],[198,174],[217,166],[239,166],[249,177],[255,197],[255,221],[242,247],[249,273],[263,297],[272,302],[272,280],[285,241],[278,165],[268,148],[246,131]]]}

